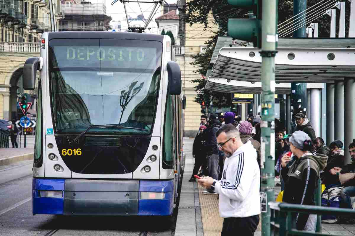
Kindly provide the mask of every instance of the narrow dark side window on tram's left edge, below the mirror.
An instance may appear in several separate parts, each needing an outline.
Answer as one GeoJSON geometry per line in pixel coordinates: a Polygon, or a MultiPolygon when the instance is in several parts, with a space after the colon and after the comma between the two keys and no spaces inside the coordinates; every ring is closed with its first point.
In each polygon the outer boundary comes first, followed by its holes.
{"type": "Polygon", "coordinates": [[[34,167],[41,167],[43,162],[42,155],[42,89],[41,84],[38,83],[38,100],[37,100],[37,120],[36,120],[36,136],[34,144],[34,167]]]}

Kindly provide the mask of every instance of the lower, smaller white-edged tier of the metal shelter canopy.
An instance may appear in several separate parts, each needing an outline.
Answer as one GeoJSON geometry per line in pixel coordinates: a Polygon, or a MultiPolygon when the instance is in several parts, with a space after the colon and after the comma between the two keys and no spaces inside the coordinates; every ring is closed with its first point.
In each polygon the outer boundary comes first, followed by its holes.
{"type": "MultiPolygon", "coordinates": [[[[276,94],[291,93],[291,83],[273,83],[276,94]]],[[[324,88],[324,84],[307,83],[307,88],[324,88]]],[[[245,93],[261,94],[261,82],[246,82],[227,80],[210,76],[208,78],[206,89],[222,93],[245,93]]]]}

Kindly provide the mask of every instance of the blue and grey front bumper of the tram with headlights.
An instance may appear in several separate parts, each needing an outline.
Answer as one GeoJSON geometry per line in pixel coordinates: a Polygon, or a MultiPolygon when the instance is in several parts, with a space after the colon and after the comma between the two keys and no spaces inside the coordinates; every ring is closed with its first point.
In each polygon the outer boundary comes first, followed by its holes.
{"type": "Polygon", "coordinates": [[[173,180],[34,178],[33,214],[171,215],[173,185],[173,180]]]}

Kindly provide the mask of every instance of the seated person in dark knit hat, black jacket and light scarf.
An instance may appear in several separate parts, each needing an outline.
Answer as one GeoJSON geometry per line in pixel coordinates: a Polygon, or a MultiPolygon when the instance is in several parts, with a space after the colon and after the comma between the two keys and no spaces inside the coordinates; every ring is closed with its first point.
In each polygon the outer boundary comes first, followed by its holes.
{"type": "Polygon", "coordinates": [[[331,174],[330,171],[334,167],[341,169],[344,166],[343,143],[340,140],[335,140],[329,146],[330,151],[327,166],[321,174],[322,183],[326,185],[326,188],[331,188],[332,185],[340,184],[338,176],[331,174]]]}

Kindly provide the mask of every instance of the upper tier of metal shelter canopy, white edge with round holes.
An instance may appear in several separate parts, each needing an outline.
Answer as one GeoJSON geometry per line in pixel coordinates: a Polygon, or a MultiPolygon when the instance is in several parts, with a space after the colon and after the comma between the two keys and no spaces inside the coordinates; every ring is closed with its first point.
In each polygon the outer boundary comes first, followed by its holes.
{"type": "MultiPolygon", "coordinates": [[[[355,77],[353,48],[278,48],[276,82],[334,82],[355,77]]],[[[261,82],[258,48],[221,48],[211,75],[231,80],[261,82]]]]}

